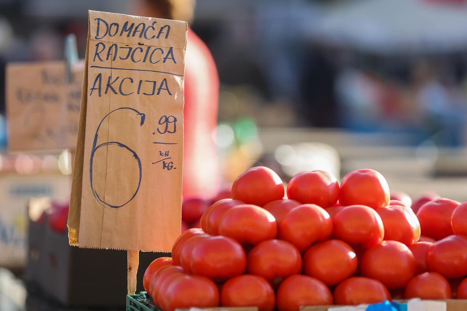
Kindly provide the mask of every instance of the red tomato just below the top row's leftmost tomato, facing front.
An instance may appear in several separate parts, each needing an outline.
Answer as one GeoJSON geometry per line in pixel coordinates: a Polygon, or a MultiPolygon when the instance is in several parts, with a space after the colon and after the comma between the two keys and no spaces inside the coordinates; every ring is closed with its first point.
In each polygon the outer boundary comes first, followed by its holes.
{"type": "Polygon", "coordinates": [[[276,238],[276,219],[261,207],[237,205],[224,213],[219,222],[219,235],[231,237],[240,243],[258,244],[276,238]]]}

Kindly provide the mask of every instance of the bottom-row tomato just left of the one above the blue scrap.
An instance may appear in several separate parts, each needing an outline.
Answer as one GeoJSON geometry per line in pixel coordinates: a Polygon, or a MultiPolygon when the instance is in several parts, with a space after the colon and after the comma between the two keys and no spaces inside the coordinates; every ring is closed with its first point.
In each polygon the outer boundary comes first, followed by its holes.
{"type": "Polygon", "coordinates": [[[300,274],[289,276],[277,290],[279,311],[299,311],[304,305],[333,304],[333,295],[325,283],[300,274]]]}

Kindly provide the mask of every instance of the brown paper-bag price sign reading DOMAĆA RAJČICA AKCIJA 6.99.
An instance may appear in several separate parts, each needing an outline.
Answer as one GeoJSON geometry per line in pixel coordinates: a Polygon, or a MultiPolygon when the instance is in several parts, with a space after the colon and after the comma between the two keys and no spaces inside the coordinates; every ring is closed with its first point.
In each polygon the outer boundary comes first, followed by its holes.
{"type": "Polygon", "coordinates": [[[70,244],[170,251],[180,235],[186,33],[89,11],[70,244]]]}

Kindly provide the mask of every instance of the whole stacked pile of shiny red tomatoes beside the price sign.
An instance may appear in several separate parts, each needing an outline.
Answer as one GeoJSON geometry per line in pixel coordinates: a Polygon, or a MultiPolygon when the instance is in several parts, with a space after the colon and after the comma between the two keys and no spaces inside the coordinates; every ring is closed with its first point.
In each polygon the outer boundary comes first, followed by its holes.
{"type": "MultiPolygon", "coordinates": [[[[377,303],[396,298],[467,298],[467,202],[439,198],[419,207],[390,200],[371,169],[342,182],[302,172],[287,186],[266,167],[233,183],[200,229],[185,231],[172,257],[151,263],[145,290],[163,311],[377,303]]],[[[426,201],[426,200],[425,200],[426,201]]]]}

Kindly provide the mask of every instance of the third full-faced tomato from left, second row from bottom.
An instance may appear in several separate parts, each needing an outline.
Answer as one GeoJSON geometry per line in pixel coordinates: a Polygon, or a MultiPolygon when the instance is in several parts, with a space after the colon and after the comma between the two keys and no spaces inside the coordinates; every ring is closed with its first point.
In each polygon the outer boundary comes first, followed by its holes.
{"type": "Polygon", "coordinates": [[[329,286],[354,275],[357,265],[354,249],[340,240],[313,245],[303,256],[304,273],[329,286]]]}

